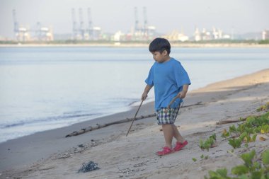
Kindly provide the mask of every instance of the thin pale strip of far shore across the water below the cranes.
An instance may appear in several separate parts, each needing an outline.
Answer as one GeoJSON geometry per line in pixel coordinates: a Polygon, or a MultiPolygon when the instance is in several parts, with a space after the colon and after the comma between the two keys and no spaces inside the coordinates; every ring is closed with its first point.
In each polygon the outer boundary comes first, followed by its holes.
{"type": "MultiPolygon", "coordinates": [[[[173,47],[261,47],[268,48],[269,44],[257,43],[173,43],[173,47]]],[[[148,47],[147,43],[77,43],[77,44],[0,44],[0,47],[148,47]]]]}

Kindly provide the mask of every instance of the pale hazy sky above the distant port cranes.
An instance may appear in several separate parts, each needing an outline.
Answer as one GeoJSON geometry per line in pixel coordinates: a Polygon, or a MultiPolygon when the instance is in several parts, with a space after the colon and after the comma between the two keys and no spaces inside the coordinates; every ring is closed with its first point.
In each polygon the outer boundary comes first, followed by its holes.
{"type": "Polygon", "coordinates": [[[87,23],[87,8],[91,8],[93,26],[104,33],[121,30],[128,33],[135,26],[134,8],[139,23],[143,23],[143,7],[147,21],[159,33],[181,31],[193,35],[195,27],[224,33],[258,33],[269,29],[268,0],[0,0],[0,37],[13,37],[13,15],[21,26],[35,29],[36,23],[52,27],[57,34],[72,33],[71,8],[79,22],[79,8],[87,23]]]}

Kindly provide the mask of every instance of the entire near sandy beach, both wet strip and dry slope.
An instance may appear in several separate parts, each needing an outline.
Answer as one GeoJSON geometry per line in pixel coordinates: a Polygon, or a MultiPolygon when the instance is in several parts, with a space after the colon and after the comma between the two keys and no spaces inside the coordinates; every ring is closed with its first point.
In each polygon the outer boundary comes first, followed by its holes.
{"type": "MultiPolygon", "coordinates": [[[[227,153],[232,147],[220,137],[231,124],[217,122],[261,115],[263,112],[256,109],[269,102],[268,91],[269,69],[190,91],[183,106],[191,106],[182,108],[176,120],[189,144],[167,156],[155,154],[164,146],[155,117],[135,121],[128,137],[125,134],[130,122],[65,137],[84,127],[133,117],[137,106],[127,112],[9,140],[0,144],[0,178],[204,178],[210,170],[229,169],[241,163],[227,153]],[[199,102],[200,105],[193,105],[199,102]],[[213,133],[217,134],[217,146],[202,151],[200,139],[213,133]],[[201,159],[202,154],[208,155],[208,159],[201,159]],[[82,163],[88,161],[98,163],[100,169],[77,173],[82,163]]],[[[147,103],[138,116],[153,113],[154,103],[147,103]]],[[[268,148],[269,137],[264,137],[267,140],[257,137],[256,142],[235,149],[234,153],[268,148]]]]}

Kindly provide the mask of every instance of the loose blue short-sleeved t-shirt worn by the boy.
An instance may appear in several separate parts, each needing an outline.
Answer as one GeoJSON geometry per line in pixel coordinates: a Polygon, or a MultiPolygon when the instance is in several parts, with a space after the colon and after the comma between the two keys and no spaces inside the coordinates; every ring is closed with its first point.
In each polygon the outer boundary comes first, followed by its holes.
{"type": "MultiPolygon", "coordinates": [[[[183,85],[190,85],[189,76],[181,62],[173,58],[163,63],[155,62],[145,82],[154,86],[155,110],[167,108],[171,100],[182,91],[183,85]]],[[[177,98],[171,108],[176,108],[182,101],[177,98]]]]}

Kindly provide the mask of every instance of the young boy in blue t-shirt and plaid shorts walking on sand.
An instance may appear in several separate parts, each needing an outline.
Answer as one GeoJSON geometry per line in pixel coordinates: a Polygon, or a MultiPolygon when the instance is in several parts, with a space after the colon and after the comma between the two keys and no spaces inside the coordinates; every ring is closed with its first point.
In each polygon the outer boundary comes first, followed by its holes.
{"type": "Polygon", "coordinates": [[[181,63],[169,56],[170,49],[170,43],[164,38],[156,38],[150,43],[149,52],[153,54],[156,62],[152,65],[149,76],[145,80],[147,86],[141,98],[145,100],[150,89],[154,86],[157,122],[163,129],[165,139],[164,149],[156,153],[159,156],[179,151],[188,144],[178,132],[174,122],[178,115],[180,104],[183,101],[182,99],[185,98],[188,91],[190,79],[181,63]],[[177,99],[167,109],[174,97],[177,97],[177,99]],[[173,137],[176,138],[177,142],[176,146],[172,149],[173,137]]]}

